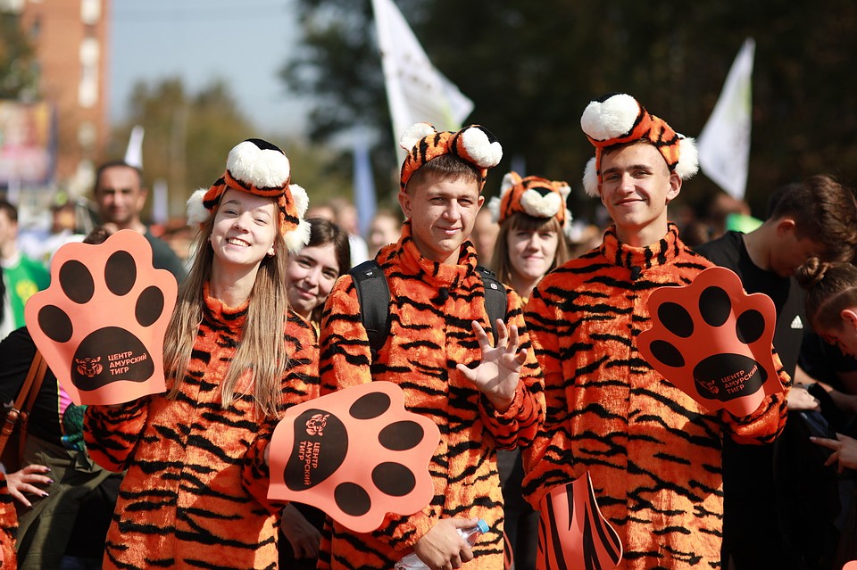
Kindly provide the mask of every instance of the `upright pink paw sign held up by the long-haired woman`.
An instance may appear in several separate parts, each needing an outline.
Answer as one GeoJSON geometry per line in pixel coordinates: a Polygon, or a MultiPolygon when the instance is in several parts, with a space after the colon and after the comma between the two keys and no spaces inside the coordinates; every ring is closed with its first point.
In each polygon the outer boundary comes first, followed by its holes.
{"type": "Polygon", "coordinates": [[[146,238],[126,229],[57,250],[51,285],[29,298],[24,318],[75,404],[121,404],[165,390],[163,335],[177,291],[152,266],[146,238]]]}

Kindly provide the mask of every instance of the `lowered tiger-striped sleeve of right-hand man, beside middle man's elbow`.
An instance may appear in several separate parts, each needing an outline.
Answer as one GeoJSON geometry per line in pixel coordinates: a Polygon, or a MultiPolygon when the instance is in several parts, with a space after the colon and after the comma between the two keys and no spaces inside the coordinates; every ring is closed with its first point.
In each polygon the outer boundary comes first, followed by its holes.
{"type": "Polygon", "coordinates": [[[542,497],[553,487],[578,477],[568,444],[571,439],[567,429],[569,407],[560,362],[560,326],[568,326],[545,304],[538,289],[529,298],[525,320],[545,388],[545,419],[533,442],[521,451],[524,498],[538,510],[542,497]]]}

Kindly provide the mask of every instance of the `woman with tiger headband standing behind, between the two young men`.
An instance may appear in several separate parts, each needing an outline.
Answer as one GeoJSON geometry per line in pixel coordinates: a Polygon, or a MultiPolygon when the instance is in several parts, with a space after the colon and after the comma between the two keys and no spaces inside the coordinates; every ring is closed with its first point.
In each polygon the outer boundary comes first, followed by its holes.
{"type": "MultiPolygon", "coordinates": [[[[503,177],[500,197],[488,208],[500,224],[493,266],[499,279],[520,295],[525,305],[548,271],[570,259],[568,233],[571,213],[566,207],[570,187],[545,178],[503,177]]],[[[524,470],[520,450],[499,450],[497,463],[503,484],[505,534],[516,570],[536,567],[538,516],[520,491],[524,470]]],[[[507,566],[511,562],[506,552],[507,566]]]]}

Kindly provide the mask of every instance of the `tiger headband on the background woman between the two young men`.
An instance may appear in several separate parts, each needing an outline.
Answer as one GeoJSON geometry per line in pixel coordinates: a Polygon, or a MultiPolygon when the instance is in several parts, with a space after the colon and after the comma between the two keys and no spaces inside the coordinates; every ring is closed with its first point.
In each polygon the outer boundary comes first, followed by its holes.
{"type": "Polygon", "coordinates": [[[537,176],[520,178],[517,172],[509,172],[503,176],[500,184],[500,197],[493,197],[488,202],[494,221],[502,224],[512,214],[523,213],[533,218],[560,221],[562,231],[566,236],[571,234],[571,212],[566,202],[571,194],[568,182],[547,180],[537,176]]]}

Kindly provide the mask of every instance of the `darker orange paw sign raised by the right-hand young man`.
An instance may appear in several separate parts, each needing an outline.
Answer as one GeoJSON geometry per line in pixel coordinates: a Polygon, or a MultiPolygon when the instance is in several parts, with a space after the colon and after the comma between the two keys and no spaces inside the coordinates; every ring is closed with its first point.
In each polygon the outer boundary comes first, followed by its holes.
{"type": "Polygon", "coordinates": [[[771,346],[777,311],[765,294],[747,294],[728,268],[649,297],[652,327],[638,347],[649,364],[708,409],[746,416],[783,387],[771,346]]]}

